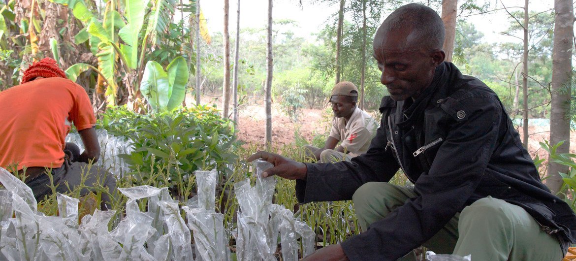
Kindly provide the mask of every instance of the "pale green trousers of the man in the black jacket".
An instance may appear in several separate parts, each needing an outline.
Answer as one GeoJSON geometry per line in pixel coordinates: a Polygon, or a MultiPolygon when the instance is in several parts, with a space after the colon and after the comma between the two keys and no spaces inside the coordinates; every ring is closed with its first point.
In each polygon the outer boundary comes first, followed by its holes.
{"type": "MultiPolygon", "coordinates": [[[[353,196],[362,230],[415,196],[411,188],[364,184],[353,196]]],[[[524,209],[490,196],[454,215],[423,245],[436,254],[472,255],[472,261],[560,261],[564,257],[558,239],[541,230],[524,209]]],[[[399,260],[416,260],[414,251],[399,260]]]]}

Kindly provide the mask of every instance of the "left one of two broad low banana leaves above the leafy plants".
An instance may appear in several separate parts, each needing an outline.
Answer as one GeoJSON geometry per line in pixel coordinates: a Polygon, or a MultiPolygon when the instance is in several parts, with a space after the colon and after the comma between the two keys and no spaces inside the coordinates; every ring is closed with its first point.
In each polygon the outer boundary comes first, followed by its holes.
{"type": "Polygon", "coordinates": [[[140,82],[140,92],[154,111],[166,110],[169,88],[168,74],[162,65],[153,60],[147,62],[140,82]]]}

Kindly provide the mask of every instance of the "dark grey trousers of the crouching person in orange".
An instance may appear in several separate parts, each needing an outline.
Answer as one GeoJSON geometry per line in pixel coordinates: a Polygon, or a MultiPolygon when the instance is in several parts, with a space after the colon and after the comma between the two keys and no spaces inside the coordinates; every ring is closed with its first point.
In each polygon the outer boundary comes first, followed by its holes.
{"type": "MultiPolygon", "coordinates": [[[[107,171],[96,166],[90,166],[84,162],[69,162],[65,159],[62,167],[52,169],[52,179],[56,186],[56,192],[66,193],[73,191],[77,186],[98,187],[103,186],[105,192],[101,195],[101,209],[108,209],[110,206],[111,197],[109,195],[116,195],[116,179],[107,171]]],[[[26,185],[32,188],[32,192],[37,201],[40,201],[44,196],[51,194],[52,189],[49,187],[50,177],[48,175],[41,175],[36,179],[26,181],[26,185]]],[[[89,188],[83,187],[80,189],[80,195],[84,196],[92,192],[89,188]]]]}

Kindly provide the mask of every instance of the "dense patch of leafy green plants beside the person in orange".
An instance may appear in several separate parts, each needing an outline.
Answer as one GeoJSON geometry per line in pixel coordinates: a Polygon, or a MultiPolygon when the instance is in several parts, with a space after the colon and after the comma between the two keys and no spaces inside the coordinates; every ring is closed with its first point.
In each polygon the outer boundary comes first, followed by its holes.
{"type": "Polygon", "coordinates": [[[217,168],[229,175],[229,163],[237,160],[234,124],[209,106],[149,115],[109,108],[98,127],[133,142],[135,151],[121,155],[131,165],[132,184],[169,187],[184,201],[195,187],[194,171],[217,168]]]}

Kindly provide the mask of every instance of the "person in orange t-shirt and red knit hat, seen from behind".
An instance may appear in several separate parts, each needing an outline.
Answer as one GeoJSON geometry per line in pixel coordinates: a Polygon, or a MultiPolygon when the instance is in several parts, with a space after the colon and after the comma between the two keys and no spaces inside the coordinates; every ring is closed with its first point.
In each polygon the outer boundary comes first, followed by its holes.
{"type": "MultiPolygon", "coordinates": [[[[25,183],[39,200],[51,193],[51,172],[56,192],[74,190],[84,177],[86,186],[102,186],[103,209],[116,190],[114,177],[90,162],[98,161],[100,145],[96,118],[84,88],[66,78],[55,60],[33,63],[20,85],[0,92],[0,167],[26,176],[25,183]],[[71,124],[78,130],[85,150],[75,161],[65,154],[65,137],[71,124]]],[[[82,188],[81,194],[90,191],[82,188]]]]}

